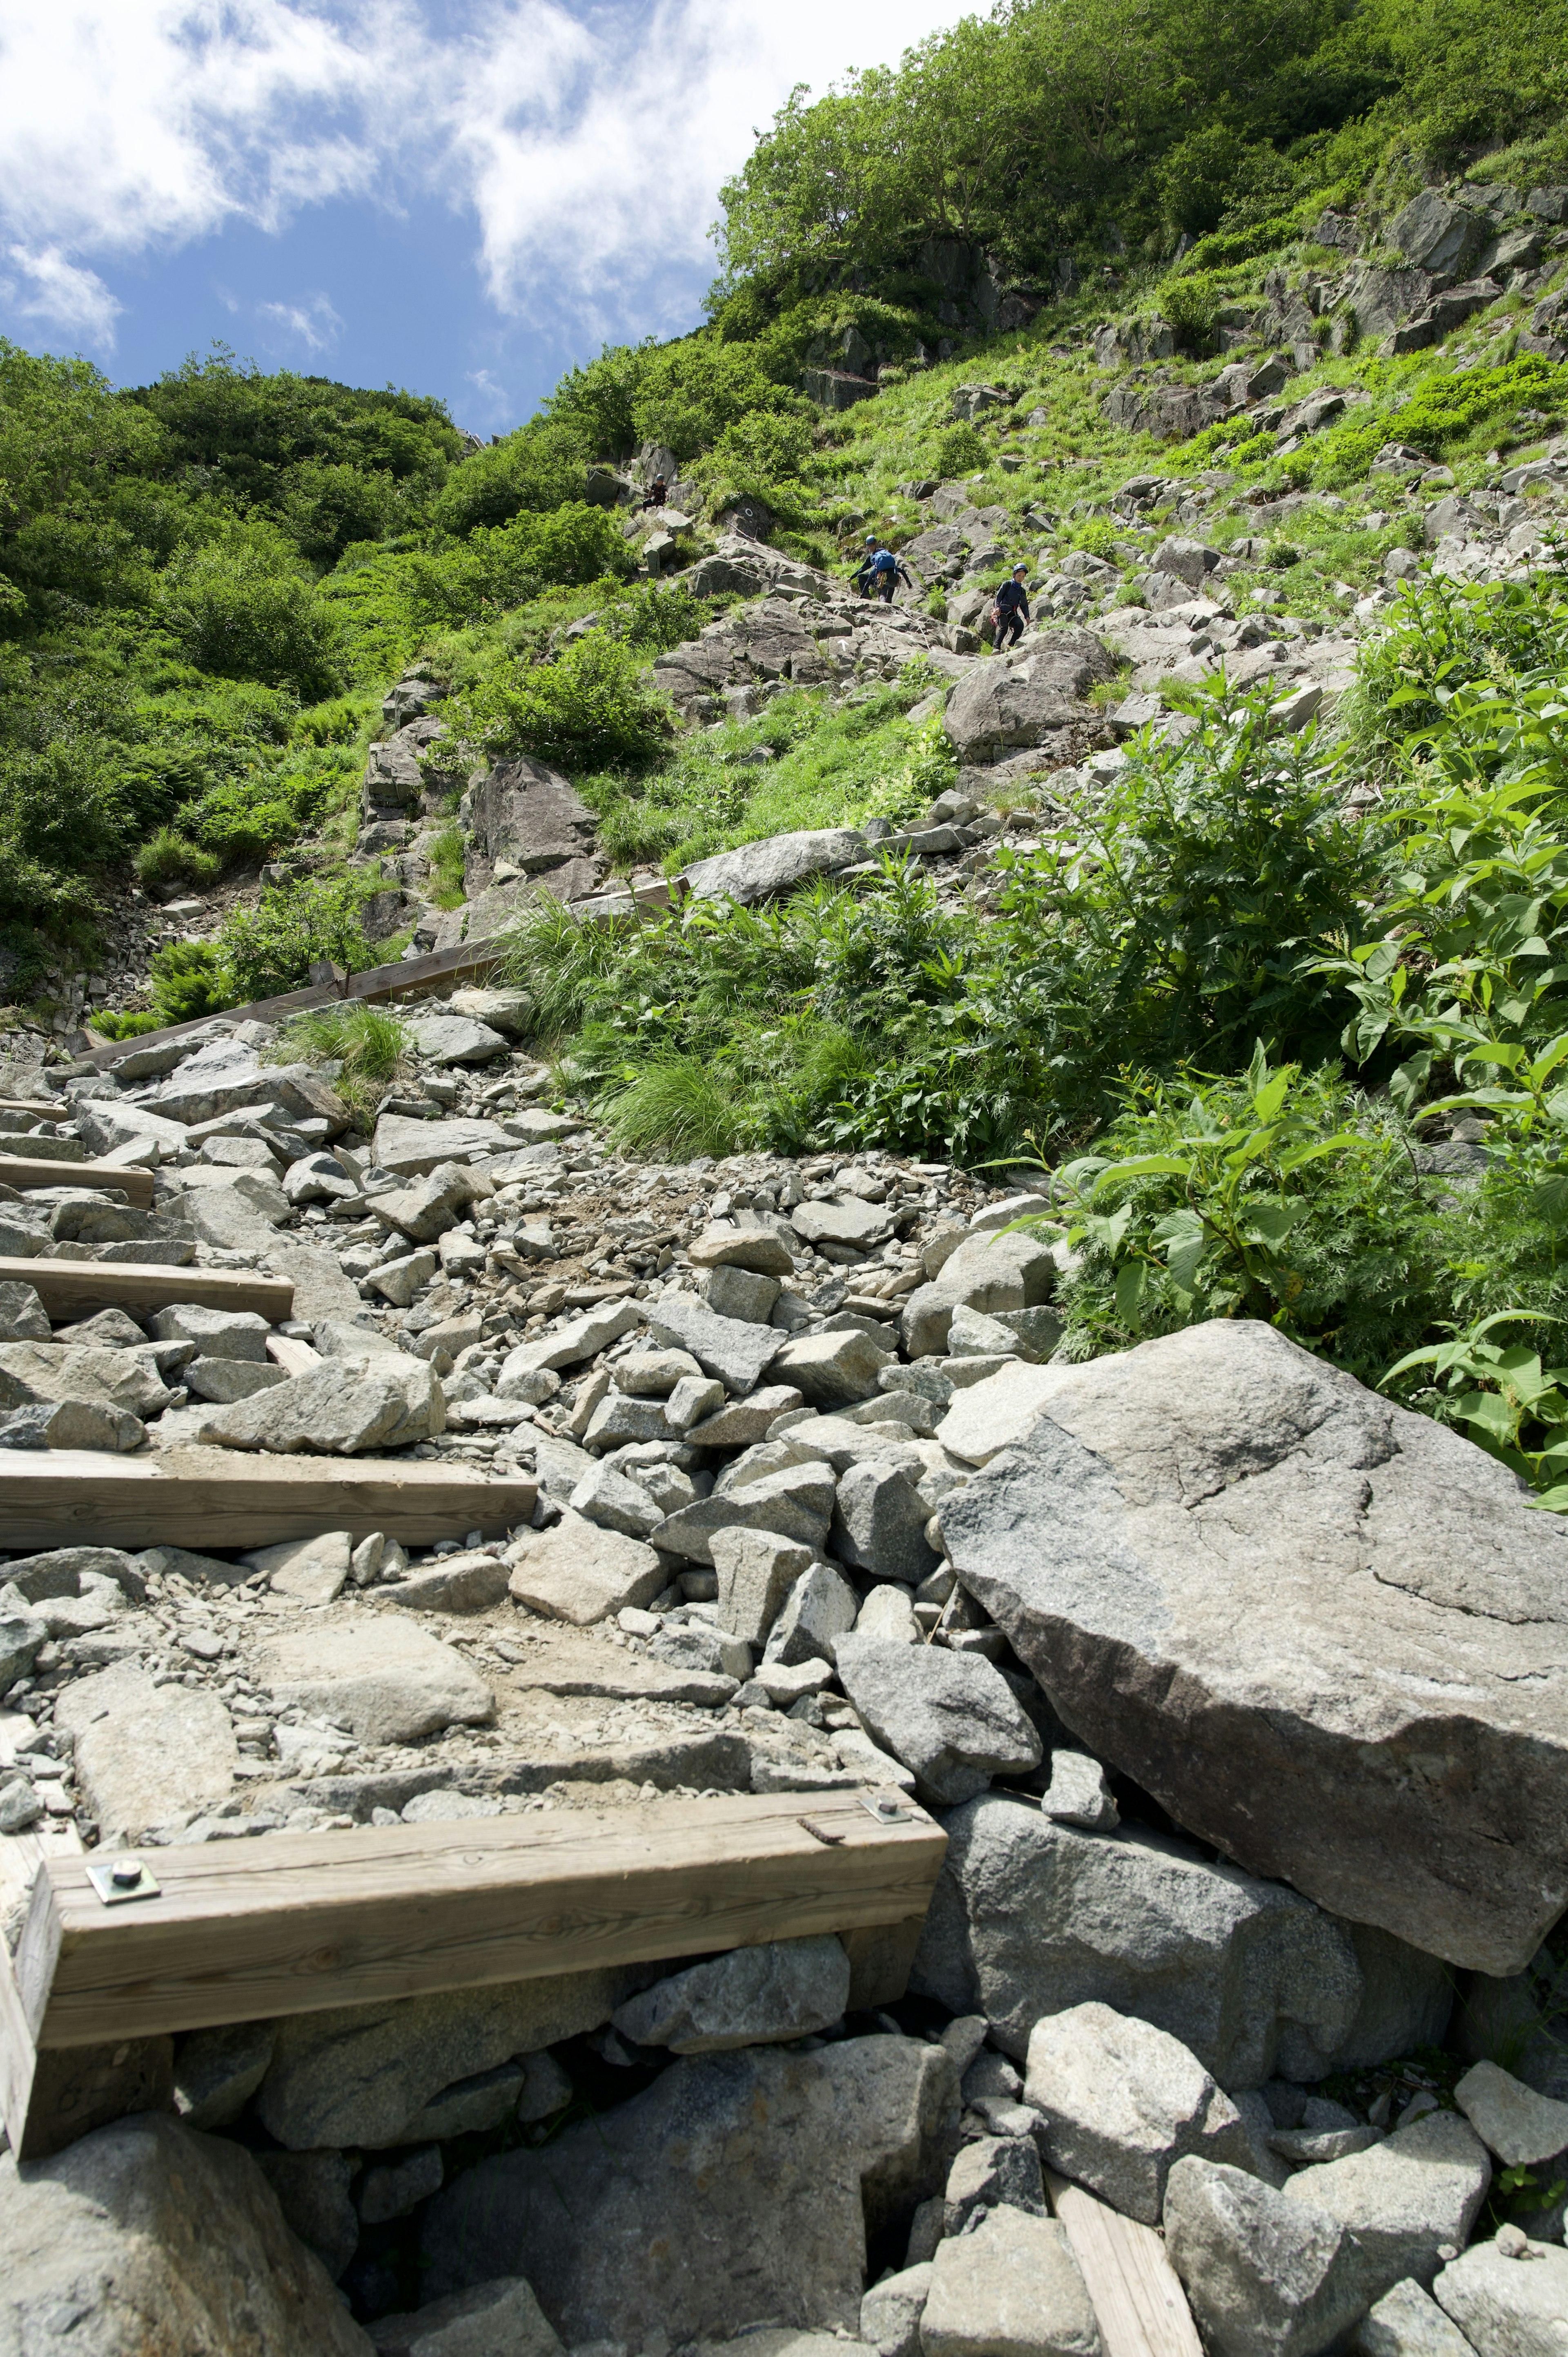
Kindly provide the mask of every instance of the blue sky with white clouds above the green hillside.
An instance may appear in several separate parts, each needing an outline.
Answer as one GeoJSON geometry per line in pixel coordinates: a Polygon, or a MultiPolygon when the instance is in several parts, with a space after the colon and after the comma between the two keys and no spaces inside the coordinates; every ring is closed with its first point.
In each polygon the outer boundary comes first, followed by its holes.
{"type": "Polygon", "coordinates": [[[212,342],[498,434],[679,335],[795,82],[953,0],[0,0],[0,335],[141,384],[212,342]]]}

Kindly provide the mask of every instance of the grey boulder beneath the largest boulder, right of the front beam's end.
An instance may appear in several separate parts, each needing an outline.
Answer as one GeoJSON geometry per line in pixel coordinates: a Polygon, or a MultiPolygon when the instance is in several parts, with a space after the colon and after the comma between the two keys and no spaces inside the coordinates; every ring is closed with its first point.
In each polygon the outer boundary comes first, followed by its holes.
{"type": "Polygon", "coordinates": [[[1236,2093],[1408,2053],[1434,2034],[1434,1982],[1445,2006],[1431,1959],[1403,1949],[1401,2006],[1349,1923],[1160,1834],[1087,1834],[1004,1794],[943,1822],[910,1987],[983,2013],[1016,2060],[1042,2015],[1099,2001],[1181,2039],[1236,2093]]]}

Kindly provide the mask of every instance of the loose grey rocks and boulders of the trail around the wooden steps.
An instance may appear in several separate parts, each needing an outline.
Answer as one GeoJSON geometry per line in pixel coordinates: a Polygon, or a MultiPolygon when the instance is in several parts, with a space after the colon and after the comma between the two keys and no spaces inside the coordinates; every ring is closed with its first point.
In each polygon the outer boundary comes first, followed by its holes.
{"type": "Polygon", "coordinates": [[[1467,2244],[1497,2168],[1551,2185],[1568,2081],[1429,2058],[1483,2055],[1561,1909],[1561,1525],[1264,1327],[1049,1365],[1049,1193],[620,1162],[535,1105],[516,992],[408,1023],[368,1138],[231,1018],[12,1136],[64,1181],[2,1214],[12,1464],[264,1492],[330,1454],[533,1501],[434,1546],[61,1525],[0,1565],[12,1945],[40,1860],[130,1846],[658,1841],[863,1791],[946,1864],[868,2011],[839,1940],[785,1935],[153,2041],[151,2110],[5,2180],[24,2331],[73,2300],[104,2350],[134,2312],[224,2350],[983,2357],[1191,2348],[1191,2308],[1212,2350],[1549,2348],[1561,2190],[1467,2244]],[[52,1325],[52,1261],[167,1306],[52,1325]],[[1148,2267],[1177,2338],[1118,2338],[1148,2267]]]}

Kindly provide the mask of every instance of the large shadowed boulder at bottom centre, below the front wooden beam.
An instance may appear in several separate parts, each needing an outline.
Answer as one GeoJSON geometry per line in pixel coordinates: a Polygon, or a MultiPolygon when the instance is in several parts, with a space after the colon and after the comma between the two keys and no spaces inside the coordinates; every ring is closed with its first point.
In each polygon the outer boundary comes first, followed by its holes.
{"type": "Polygon", "coordinates": [[[938,2192],[955,2143],[943,2046],[700,2055],[436,2194],[424,2286],[523,2275],[568,2348],[729,2338],[762,2317],[854,2336],[868,2227],[938,2192]]]}

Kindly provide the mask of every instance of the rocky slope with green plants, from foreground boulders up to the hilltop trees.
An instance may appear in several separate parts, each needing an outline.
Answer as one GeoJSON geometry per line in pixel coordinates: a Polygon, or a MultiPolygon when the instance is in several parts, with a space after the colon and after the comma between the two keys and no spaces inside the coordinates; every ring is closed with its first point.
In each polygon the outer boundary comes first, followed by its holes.
{"type": "Polygon", "coordinates": [[[347,884],[488,985],[9,1035],[0,1450],[538,1490],[0,1563],[12,1947],[78,1848],[948,1841],[896,1996],[809,1935],[163,2041],[0,2164],[19,2348],[1118,2357],[1106,2249],[1170,2348],[1559,2345],[1566,214],[1332,210],[1200,337],[971,271],[957,358],[806,361],[795,521],[606,441],[637,589],[384,641],[351,799],[149,886],[193,973],[347,884]],[[292,1315],[66,1325],[52,1261],[292,1315]]]}

